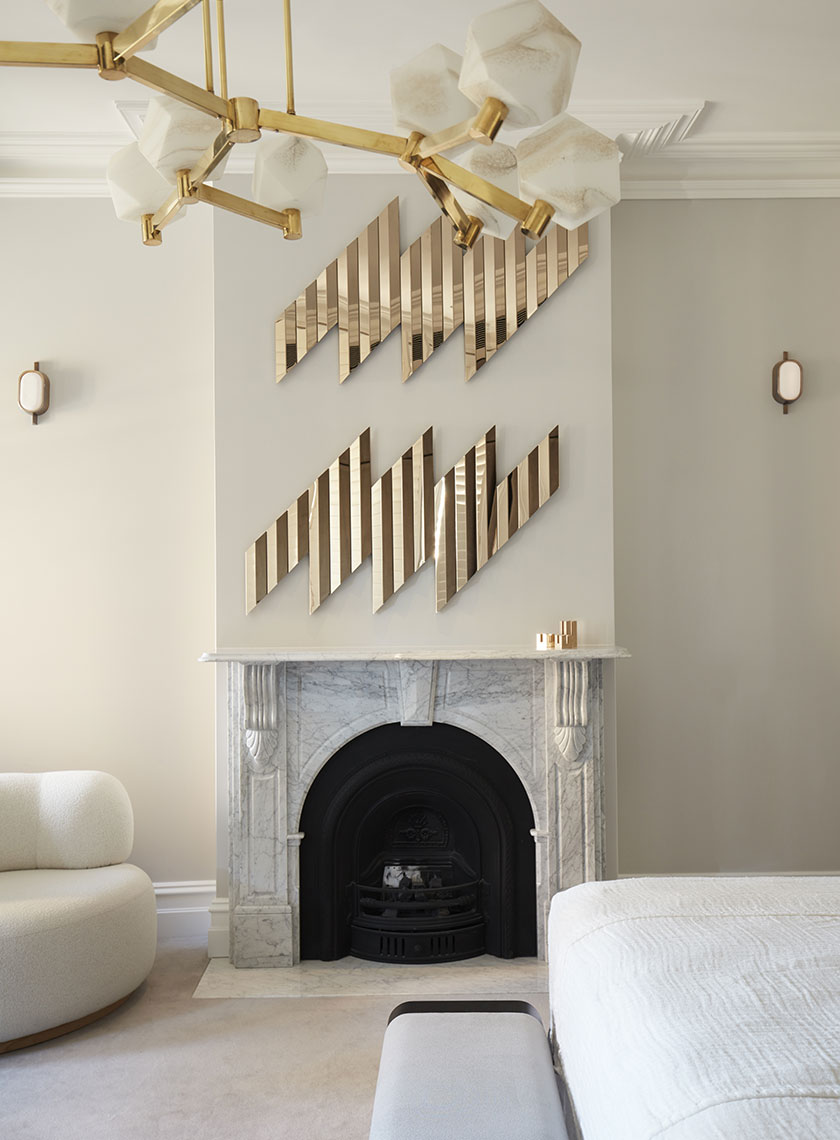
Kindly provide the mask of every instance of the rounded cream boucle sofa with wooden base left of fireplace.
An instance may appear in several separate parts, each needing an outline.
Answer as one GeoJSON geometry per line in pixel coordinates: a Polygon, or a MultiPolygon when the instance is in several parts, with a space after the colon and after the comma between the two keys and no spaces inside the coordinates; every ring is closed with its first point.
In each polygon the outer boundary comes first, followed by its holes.
{"type": "Polygon", "coordinates": [[[0,773],[0,1052],[114,1009],[155,960],[133,816],[104,772],[0,773]]]}

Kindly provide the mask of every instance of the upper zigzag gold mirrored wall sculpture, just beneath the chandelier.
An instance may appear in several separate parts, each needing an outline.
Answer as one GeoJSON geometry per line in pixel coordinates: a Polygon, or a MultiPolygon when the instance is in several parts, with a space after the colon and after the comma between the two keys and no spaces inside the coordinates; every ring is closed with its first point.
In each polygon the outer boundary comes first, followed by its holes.
{"type": "Polygon", "coordinates": [[[552,226],[531,250],[516,229],[480,238],[464,253],[438,218],[400,256],[394,198],[277,320],[277,380],[339,326],[343,383],[398,324],[408,380],[464,325],[470,380],[589,253],[589,228],[552,226]]]}

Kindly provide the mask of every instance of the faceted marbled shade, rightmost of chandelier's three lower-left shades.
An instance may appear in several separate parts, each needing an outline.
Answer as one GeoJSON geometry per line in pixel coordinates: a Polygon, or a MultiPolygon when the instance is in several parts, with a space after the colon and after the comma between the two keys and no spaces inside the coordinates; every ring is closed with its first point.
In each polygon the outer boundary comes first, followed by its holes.
{"type": "Polygon", "coordinates": [[[260,205],[317,214],[326,181],[327,163],[313,142],[294,135],[263,135],[256,144],[253,195],[260,205]]]}

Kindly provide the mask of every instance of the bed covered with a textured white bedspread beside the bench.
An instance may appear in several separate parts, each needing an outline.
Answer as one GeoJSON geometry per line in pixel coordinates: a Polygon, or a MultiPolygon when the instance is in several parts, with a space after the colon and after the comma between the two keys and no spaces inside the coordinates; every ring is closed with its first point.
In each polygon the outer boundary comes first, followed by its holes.
{"type": "Polygon", "coordinates": [[[548,956],[584,1140],[840,1140],[840,878],[585,883],[548,956]]]}

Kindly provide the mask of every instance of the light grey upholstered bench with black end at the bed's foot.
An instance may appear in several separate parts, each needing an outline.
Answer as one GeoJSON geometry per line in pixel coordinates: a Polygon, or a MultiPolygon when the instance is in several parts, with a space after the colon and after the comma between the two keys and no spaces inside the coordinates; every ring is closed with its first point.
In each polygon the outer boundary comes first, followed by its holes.
{"type": "Polygon", "coordinates": [[[543,1023],[523,1001],[411,1001],[389,1018],[370,1140],[568,1140],[543,1023]]]}

